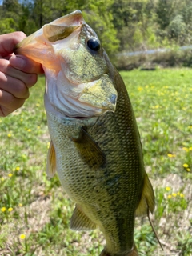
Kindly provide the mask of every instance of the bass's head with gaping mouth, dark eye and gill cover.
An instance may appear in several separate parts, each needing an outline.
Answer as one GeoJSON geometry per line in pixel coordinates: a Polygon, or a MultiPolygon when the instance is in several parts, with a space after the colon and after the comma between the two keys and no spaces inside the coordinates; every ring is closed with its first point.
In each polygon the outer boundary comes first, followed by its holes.
{"type": "Polygon", "coordinates": [[[42,26],[15,47],[16,54],[42,63],[46,103],[70,118],[114,112],[118,93],[105,50],[80,10],[42,26]]]}

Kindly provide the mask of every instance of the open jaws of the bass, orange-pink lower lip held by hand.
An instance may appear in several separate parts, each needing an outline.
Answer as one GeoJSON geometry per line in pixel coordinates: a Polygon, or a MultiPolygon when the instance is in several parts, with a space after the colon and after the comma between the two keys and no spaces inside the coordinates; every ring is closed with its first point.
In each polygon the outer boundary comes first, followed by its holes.
{"type": "Polygon", "coordinates": [[[58,62],[57,53],[54,50],[54,44],[58,42],[60,47],[67,47],[69,43],[75,42],[80,32],[80,27],[85,23],[80,10],[74,11],[61,18],[56,19],[30,36],[19,42],[15,48],[15,54],[22,54],[35,62],[42,64],[44,70],[59,70],[61,67],[58,62]],[[78,30],[78,33],[73,33],[78,30]],[[75,36],[76,35],[76,36],[75,36]],[[62,43],[61,40],[67,38],[62,43]]]}

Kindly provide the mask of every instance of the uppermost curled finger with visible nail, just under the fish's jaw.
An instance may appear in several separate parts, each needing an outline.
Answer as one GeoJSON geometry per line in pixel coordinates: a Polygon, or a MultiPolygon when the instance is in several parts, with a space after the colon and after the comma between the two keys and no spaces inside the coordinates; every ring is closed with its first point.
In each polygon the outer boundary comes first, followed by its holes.
{"type": "Polygon", "coordinates": [[[26,73],[42,74],[42,65],[22,55],[13,55],[10,58],[10,65],[26,73]]]}

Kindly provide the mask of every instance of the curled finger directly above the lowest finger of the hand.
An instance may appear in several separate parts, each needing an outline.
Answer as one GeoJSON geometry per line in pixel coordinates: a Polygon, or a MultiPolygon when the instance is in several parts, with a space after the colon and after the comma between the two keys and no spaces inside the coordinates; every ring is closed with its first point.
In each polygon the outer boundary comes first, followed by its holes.
{"type": "Polygon", "coordinates": [[[26,99],[29,97],[29,90],[21,80],[0,72],[0,81],[1,89],[12,94],[15,98],[26,99]]]}

